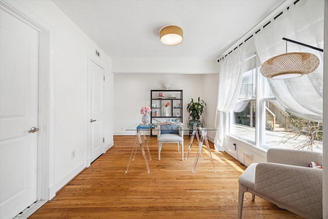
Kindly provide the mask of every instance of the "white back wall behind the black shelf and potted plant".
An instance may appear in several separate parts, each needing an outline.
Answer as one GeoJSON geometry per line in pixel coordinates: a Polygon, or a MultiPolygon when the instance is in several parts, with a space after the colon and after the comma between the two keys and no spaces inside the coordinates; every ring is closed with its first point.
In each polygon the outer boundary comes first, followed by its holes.
{"type": "MultiPolygon", "coordinates": [[[[205,122],[208,114],[213,114],[216,108],[216,99],[205,95],[203,89],[204,79],[217,78],[216,74],[114,74],[114,135],[134,135],[134,132],[125,131],[133,123],[141,123],[140,109],[150,106],[150,90],[165,89],[163,83],[170,82],[170,89],[183,90],[183,123],[188,122],[189,113],[187,104],[191,98],[200,97],[207,103],[206,111],[200,120],[205,122]]],[[[213,83],[215,84],[215,82],[213,83]]],[[[217,84],[217,79],[216,79],[217,84]]],[[[207,84],[206,86],[208,86],[207,84]]],[[[212,89],[208,86],[208,89],[212,89]]],[[[213,87],[214,93],[217,88],[213,87]]],[[[213,123],[214,124],[214,123],[213,123]]]]}

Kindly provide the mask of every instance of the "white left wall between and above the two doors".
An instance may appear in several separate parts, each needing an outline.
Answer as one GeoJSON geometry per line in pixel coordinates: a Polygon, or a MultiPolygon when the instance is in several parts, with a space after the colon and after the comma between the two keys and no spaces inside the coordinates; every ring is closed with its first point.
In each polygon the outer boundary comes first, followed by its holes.
{"type": "Polygon", "coordinates": [[[8,1],[49,30],[50,140],[49,198],[86,167],[88,55],[105,69],[105,139],[113,145],[111,59],[51,1],[8,1]],[[101,59],[94,53],[101,52],[101,59]],[[71,151],[76,157],[71,159],[71,151]]]}

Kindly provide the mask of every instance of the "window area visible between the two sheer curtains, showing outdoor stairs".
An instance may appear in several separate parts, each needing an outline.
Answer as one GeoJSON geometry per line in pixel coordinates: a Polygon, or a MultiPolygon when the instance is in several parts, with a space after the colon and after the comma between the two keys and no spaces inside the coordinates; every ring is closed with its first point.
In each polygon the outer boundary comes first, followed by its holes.
{"type": "Polygon", "coordinates": [[[304,120],[282,107],[257,60],[256,54],[245,60],[238,101],[229,113],[229,134],[263,149],[322,151],[322,122],[304,120]]]}

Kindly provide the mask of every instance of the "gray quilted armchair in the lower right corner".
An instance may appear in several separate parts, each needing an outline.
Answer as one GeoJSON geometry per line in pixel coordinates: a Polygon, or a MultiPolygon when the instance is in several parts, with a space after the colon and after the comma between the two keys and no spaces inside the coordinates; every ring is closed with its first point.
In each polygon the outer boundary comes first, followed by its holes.
{"type": "Polygon", "coordinates": [[[322,153],[271,148],[267,162],[251,164],[239,176],[238,218],[241,219],[244,192],[268,200],[305,218],[322,218],[322,153]]]}

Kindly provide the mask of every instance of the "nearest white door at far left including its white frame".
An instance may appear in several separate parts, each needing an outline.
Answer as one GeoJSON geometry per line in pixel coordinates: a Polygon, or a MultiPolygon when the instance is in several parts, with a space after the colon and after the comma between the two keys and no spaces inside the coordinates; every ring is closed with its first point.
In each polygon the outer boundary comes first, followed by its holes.
{"type": "Polygon", "coordinates": [[[0,16],[0,217],[13,218],[49,196],[49,33],[3,1],[0,16]]]}

